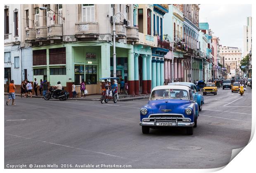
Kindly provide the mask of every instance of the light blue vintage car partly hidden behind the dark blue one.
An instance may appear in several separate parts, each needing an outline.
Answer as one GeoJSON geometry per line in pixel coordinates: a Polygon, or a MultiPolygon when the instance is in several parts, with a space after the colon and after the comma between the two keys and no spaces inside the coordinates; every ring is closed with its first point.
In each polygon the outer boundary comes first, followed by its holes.
{"type": "Polygon", "coordinates": [[[201,94],[198,94],[197,86],[191,82],[172,82],[168,85],[184,85],[190,87],[192,89],[193,93],[193,99],[197,102],[199,106],[199,111],[202,110],[203,104],[204,104],[204,97],[201,94]]]}

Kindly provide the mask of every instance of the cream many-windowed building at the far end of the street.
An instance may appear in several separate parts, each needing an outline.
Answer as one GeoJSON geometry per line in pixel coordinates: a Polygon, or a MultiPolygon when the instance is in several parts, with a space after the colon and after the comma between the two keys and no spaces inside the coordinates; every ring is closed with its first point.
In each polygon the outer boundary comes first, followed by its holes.
{"type": "MultiPolygon", "coordinates": [[[[239,65],[242,59],[242,51],[237,47],[219,45],[220,57],[224,57],[224,66],[228,69],[228,77],[240,75],[239,65]]],[[[223,63],[223,62],[221,62],[223,63]]]]}

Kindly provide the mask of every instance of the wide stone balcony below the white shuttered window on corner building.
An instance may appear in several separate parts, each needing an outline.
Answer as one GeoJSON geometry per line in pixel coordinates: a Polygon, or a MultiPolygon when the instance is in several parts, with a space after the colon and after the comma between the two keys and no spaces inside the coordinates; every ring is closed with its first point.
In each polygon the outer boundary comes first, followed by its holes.
{"type": "Polygon", "coordinates": [[[99,23],[79,22],[76,25],[76,38],[79,40],[97,40],[99,37],[99,23]]]}

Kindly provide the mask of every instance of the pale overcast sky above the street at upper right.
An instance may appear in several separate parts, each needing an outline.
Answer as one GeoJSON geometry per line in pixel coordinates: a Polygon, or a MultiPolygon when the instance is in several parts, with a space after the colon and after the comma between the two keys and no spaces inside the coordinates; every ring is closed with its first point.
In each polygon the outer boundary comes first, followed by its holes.
{"type": "Polygon", "coordinates": [[[247,25],[247,16],[251,16],[251,5],[200,4],[199,7],[199,22],[209,23],[220,44],[241,48],[243,53],[243,26],[247,25]]]}

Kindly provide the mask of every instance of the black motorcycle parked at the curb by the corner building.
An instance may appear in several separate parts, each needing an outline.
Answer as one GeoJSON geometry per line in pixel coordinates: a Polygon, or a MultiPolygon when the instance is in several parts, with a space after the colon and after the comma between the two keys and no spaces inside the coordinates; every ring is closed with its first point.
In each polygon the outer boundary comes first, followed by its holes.
{"type": "Polygon", "coordinates": [[[48,90],[49,91],[44,95],[45,100],[50,100],[50,98],[52,98],[52,99],[59,99],[60,101],[64,101],[69,97],[69,92],[66,92],[66,90],[64,90],[63,88],[61,91],[57,91],[57,89],[52,88],[51,86],[48,90]]]}

